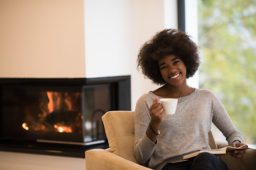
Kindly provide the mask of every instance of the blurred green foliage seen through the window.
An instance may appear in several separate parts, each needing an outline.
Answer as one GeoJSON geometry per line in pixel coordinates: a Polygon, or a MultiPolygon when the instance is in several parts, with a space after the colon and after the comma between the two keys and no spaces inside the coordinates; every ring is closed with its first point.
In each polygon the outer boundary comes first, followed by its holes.
{"type": "Polygon", "coordinates": [[[222,101],[245,142],[256,143],[256,1],[198,0],[200,88],[222,101]]]}

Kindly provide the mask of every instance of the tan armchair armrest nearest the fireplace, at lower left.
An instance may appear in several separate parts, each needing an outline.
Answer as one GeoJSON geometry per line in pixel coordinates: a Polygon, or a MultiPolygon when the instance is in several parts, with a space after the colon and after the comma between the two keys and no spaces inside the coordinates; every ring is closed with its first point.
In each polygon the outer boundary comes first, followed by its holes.
{"type": "Polygon", "coordinates": [[[145,166],[136,164],[113,154],[109,149],[90,149],[86,151],[85,166],[87,170],[149,170],[149,168],[146,168],[145,166]]]}

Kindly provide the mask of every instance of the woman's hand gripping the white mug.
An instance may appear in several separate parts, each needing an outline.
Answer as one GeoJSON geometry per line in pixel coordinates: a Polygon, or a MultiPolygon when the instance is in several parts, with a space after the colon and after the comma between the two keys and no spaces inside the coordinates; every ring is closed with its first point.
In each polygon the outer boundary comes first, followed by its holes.
{"type": "Polygon", "coordinates": [[[151,115],[151,125],[160,125],[164,120],[164,115],[166,115],[163,106],[159,102],[159,98],[156,97],[154,103],[149,108],[149,113],[151,115]]]}

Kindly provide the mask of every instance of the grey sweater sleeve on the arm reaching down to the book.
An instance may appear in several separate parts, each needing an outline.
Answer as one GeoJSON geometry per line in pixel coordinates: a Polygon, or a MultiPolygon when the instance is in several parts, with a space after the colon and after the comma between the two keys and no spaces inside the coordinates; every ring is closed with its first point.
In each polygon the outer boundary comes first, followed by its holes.
{"type": "Polygon", "coordinates": [[[235,128],[230,116],[217,96],[213,96],[213,123],[223,133],[230,145],[233,141],[243,142],[242,134],[235,128]]]}

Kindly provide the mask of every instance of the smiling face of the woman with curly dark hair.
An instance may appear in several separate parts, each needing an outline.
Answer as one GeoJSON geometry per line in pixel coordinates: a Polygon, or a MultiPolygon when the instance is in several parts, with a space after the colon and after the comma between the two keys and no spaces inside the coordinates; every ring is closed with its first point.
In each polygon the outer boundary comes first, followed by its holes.
{"type": "Polygon", "coordinates": [[[186,84],[186,65],[180,57],[166,55],[158,60],[159,70],[163,79],[172,86],[186,84]]]}

